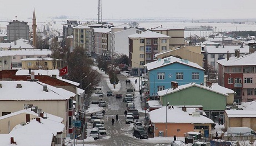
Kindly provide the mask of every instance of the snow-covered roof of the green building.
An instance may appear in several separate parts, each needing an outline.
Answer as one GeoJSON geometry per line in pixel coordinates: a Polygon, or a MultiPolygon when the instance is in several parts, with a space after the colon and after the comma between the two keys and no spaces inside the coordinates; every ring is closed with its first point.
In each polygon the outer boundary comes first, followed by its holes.
{"type": "Polygon", "coordinates": [[[169,89],[165,89],[165,90],[160,90],[160,91],[157,92],[157,94],[159,96],[167,95],[167,94],[178,92],[179,90],[187,89],[187,88],[190,88],[190,87],[193,87],[193,86],[199,87],[199,88],[202,88],[202,89],[206,89],[206,90],[210,90],[212,92],[222,94],[222,95],[225,95],[225,96],[228,96],[228,94],[234,93],[233,90],[222,87],[222,86],[218,85],[218,83],[212,84],[212,87],[206,87],[205,85],[199,85],[199,84],[192,83],[192,84],[179,85],[178,88],[175,88],[175,89],[169,88],[169,89]]]}

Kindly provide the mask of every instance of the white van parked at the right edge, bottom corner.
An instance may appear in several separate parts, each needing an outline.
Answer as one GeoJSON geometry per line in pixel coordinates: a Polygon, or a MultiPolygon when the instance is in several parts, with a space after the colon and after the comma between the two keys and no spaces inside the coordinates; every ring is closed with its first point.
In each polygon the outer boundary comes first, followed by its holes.
{"type": "Polygon", "coordinates": [[[256,136],[254,130],[250,129],[249,127],[229,127],[227,133],[225,134],[227,134],[228,136],[256,136]]]}

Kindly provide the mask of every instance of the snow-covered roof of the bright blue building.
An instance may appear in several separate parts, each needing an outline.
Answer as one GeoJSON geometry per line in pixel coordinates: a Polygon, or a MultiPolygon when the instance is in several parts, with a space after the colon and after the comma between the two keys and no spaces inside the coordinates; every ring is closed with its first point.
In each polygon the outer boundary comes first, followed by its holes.
{"type": "Polygon", "coordinates": [[[167,66],[167,65],[172,64],[172,63],[180,63],[180,64],[184,64],[186,66],[190,66],[190,67],[194,67],[194,68],[204,70],[204,68],[200,67],[197,63],[190,62],[188,60],[184,60],[184,59],[180,59],[180,58],[176,58],[176,57],[173,57],[173,56],[163,58],[163,59],[159,59],[159,60],[154,61],[154,62],[147,63],[144,66],[147,67],[148,71],[150,71],[152,69],[167,66]]]}

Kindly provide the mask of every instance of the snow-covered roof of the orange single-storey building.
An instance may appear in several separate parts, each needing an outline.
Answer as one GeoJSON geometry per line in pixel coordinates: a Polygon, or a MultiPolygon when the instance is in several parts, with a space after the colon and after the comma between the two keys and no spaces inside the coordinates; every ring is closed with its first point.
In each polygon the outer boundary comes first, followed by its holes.
{"type": "Polygon", "coordinates": [[[166,108],[162,107],[159,109],[148,112],[152,123],[214,123],[213,120],[204,117],[203,115],[192,116],[187,112],[183,112],[178,108],[166,108]],[[167,119],[163,116],[163,113],[167,112],[167,119]]]}

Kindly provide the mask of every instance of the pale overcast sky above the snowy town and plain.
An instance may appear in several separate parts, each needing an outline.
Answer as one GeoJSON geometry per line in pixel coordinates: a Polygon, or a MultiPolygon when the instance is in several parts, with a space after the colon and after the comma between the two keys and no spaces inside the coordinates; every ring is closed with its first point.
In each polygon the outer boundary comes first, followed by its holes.
{"type": "MultiPolygon", "coordinates": [[[[97,20],[98,0],[0,0],[0,18],[23,19],[77,16],[97,20]]],[[[255,18],[256,0],[102,0],[102,18],[193,18],[193,19],[249,19],[255,18]]]]}

